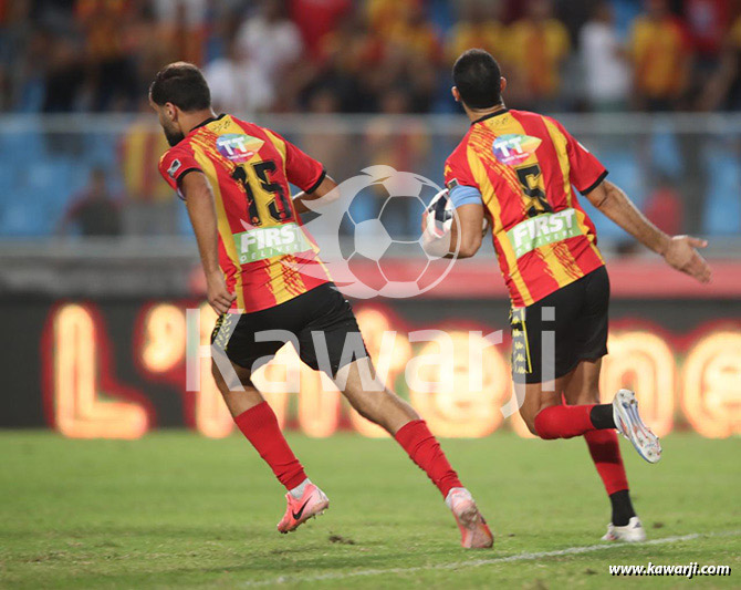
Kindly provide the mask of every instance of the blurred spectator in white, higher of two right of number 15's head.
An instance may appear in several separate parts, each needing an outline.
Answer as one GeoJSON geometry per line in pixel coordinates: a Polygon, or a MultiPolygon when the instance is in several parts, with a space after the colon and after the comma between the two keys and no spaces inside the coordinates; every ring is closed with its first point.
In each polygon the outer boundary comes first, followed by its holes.
{"type": "Polygon", "coordinates": [[[286,18],[283,0],[262,0],[260,11],[244,21],[237,33],[240,51],[249,55],[270,84],[272,95],[280,97],[281,80],[302,56],[299,28],[286,18]]]}

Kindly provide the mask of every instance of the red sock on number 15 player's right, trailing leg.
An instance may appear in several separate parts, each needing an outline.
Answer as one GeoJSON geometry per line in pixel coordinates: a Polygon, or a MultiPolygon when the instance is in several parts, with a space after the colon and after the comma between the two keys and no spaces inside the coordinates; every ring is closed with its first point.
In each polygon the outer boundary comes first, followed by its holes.
{"type": "Polygon", "coordinates": [[[427,474],[443,498],[448,496],[450,488],[463,487],[424,420],[413,420],[405,424],[394,438],[427,474]]]}

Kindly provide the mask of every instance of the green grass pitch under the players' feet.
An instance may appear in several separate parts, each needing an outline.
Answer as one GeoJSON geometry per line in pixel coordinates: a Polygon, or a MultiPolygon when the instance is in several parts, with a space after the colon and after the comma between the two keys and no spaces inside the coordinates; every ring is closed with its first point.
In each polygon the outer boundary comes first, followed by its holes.
{"type": "Polygon", "coordinates": [[[239,436],[0,432],[0,588],[741,586],[739,438],[670,435],[654,466],[622,442],[648,535],[670,542],[596,549],[608,503],[582,439],[443,441],[492,525],[492,551],[459,547],[438,491],[390,439],[290,442],[331,507],[281,536],[283,490],[239,436]],[[733,571],[691,581],[608,573],[648,561],[733,571]]]}

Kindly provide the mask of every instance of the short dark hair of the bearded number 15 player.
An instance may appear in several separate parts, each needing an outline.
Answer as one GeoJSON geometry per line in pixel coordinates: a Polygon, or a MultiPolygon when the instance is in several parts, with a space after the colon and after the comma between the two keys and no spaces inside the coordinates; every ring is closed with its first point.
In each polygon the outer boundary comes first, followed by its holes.
{"type": "Polygon", "coordinates": [[[188,62],[170,63],[157,72],[149,96],[159,106],[173,103],[186,113],[211,106],[211,91],[203,74],[188,62]]]}

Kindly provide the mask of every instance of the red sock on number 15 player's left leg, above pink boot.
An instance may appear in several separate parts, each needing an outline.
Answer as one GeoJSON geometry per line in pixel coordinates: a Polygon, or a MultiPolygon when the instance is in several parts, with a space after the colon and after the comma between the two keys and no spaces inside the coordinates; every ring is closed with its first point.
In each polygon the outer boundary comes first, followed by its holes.
{"type": "Polygon", "coordinates": [[[247,439],[260,453],[264,462],[285,489],[293,489],[306,479],[304,468],[285,442],[278,425],[275,413],[262,402],[234,418],[247,439]]]}

